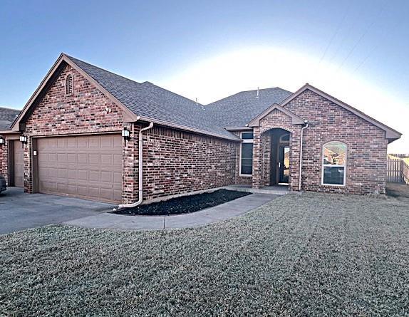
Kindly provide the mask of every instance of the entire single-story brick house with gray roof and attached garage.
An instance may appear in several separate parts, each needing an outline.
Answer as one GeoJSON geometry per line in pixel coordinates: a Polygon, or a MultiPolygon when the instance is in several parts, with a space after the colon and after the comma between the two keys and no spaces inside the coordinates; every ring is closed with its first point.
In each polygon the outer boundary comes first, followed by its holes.
{"type": "Polygon", "coordinates": [[[366,194],[385,192],[400,137],[309,84],[200,105],[65,54],[1,134],[9,185],[124,203],[139,199],[140,147],[146,200],[233,184],[366,194]]]}

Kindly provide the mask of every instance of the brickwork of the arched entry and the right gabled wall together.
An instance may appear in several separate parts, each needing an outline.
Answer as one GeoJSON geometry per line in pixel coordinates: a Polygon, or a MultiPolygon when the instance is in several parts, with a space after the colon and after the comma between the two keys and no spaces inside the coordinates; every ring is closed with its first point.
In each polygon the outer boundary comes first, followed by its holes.
{"type": "MultiPolygon", "coordinates": [[[[304,91],[285,107],[309,120],[303,137],[301,190],[348,194],[385,192],[388,147],[385,131],[311,90],[304,91]],[[330,141],[347,145],[346,186],[321,185],[323,145],[330,141]]],[[[264,135],[274,128],[291,132],[289,188],[298,190],[301,125],[292,125],[291,118],[277,109],[262,118],[259,127],[254,128],[252,186],[269,185],[267,165],[271,140],[264,135]]]]}

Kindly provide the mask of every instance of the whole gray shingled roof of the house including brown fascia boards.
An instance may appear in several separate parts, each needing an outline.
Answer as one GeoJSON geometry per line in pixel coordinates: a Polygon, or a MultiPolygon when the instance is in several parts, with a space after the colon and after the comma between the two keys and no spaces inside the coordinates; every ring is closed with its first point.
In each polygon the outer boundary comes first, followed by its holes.
{"type": "MultiPolygon", "coordinates": [[[[24,109],[11,126],[12,130],[19,131],[20,124],[28,118],[29,109],[36,105],[36,100],[41,98],[41,92],[47,89],[47,85],[50,85],[52,80],[55,80],[56,76],[58,76],[58,70],[61,72],[66,64],[76,68],[108,98],[123,108],[127,120],[130,121],[152,121],[155,124],[165,125],[170,128],[190,130],[229,140],[239,140],[239,137],[229,132],[229,130],[243,128],[270,107],[274,107],[274,105],[284,106],[308,89],[385,130],[386,138],[390,142],[400,137],[398,131],[383,125],[383,123],[309,84],[301,87],[296,93],[278,87],[249,90],[230,95],[209,105],[201,105],[148,81],[138,83],[110,71],[105,71],[105,69],[93,66],[90,63],[80,61],[77,58],[67,56],[64,53],[54,63],[46,78],[43,79],[26,103],[24,109]]],[[[14,116],[18,114],[18,110],[9,110],[15,112],[14,116]]],[[[1,122],[0,117],[0,130],[9,130],[9,125],[13,120],[14,118],[8,118],[3,120],[7,122],[1,122]]]]}

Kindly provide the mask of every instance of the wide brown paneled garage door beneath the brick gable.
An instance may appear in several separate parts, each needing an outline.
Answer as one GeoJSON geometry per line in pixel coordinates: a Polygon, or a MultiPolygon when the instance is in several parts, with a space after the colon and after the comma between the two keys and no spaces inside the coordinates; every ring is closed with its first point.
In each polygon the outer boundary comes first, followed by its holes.
{"type": "Polygon", "coordinates": [[[120,135],[38,139],[38,191],[104,202],[120,202],[120,135]]]}

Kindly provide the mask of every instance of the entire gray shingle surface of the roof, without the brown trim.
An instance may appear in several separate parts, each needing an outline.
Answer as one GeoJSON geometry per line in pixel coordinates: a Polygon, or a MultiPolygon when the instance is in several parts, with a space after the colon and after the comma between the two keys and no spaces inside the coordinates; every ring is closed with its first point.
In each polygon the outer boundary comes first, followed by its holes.
{"type": "Polygon", "coordinates": [[[242,127],[274,103],[291,93],[281,88],[242,91],[209,105],[160,88],[148,81],[137,83],[77,58],[67,56],[136,115],[164,123],[182,125],[223,137],[237,138],[228,127],[242,127]]]}

